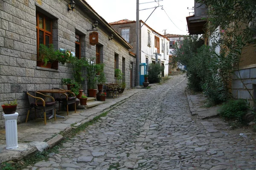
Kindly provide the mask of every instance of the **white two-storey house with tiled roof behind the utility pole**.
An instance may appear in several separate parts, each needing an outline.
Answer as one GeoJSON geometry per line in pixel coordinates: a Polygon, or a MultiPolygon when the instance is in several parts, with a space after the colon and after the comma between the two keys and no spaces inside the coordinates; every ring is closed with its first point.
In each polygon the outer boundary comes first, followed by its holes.
{"type": "MultiPolygon", "coordinates": [[[[136,21],[120,20],[110,25],[122,35],[122,37],[134,47],[131,51],[136,53],[137,36],[136,36],[136,21]]],[[[169,39],[158,33],[153,28],[140,20],[140,63],[161,63],[164,66],[162,77],[168,76],[169,63],[169,39]],[[156,55],[154,53],[158,53],[156,55]]]]}

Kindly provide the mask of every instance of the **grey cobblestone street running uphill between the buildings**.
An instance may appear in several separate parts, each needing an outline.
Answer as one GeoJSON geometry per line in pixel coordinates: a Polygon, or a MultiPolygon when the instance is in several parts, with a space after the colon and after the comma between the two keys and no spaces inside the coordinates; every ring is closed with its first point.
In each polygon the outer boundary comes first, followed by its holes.
{"type": "Polygon", "coordinates": [[[185,88],[179,75],[134,95],[28,169],[255,170],[252,135],[209,132],[191,116],[185,88]]]}

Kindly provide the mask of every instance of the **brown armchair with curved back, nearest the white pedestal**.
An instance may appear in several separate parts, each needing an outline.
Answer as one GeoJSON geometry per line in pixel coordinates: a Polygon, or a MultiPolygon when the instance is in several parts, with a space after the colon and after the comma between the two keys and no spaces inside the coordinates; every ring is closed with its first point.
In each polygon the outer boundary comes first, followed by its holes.
{"type": "Polygon", "coordinates": [[[29,97],[29,111],[26,116],[26,122],[28,121],[29,112],[32,108],[35,108],[35,119],[36,119],[36,109],[44,112],[44,125],[46,125],[47,111],[54,110],[54,120],[56,121],[56,102],[52,96],[47,96],[37,91],[27,91],[26,94],[29,97]],[[37,97],[36,94],[40,94],[43,97],[37,97]],[[47,99],[52,99],[52,101],[47,102],[47,99]]]}

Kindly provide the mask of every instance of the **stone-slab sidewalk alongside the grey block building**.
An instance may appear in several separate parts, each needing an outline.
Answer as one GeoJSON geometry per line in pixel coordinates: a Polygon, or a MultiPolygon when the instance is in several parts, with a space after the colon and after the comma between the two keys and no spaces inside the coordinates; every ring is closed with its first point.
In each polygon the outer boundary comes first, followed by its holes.
{"type": "MultiPolygon", "coordinates": [[[[154,85],[158,84],[152,84],[152,86],[154,85]]],[[[77,110],[76,113],[74,113],[74,111],[69,111],[68,116],[67,111],[57,111],[56,114],[64,116],[65,118],[56,118],[56,121],[54,121],[54,119],[47,119],[47,125],[44,125],[44,120],[42,118],[37,118],[36,120],[28,121],[27,123],[21,123],[17,125],[18,144],[20,146],[17,149],[5,149],[5,129],[0,129],[0,163],[9,160],[20,160],[24,156],[29,155],[32,152],[47,149],[49,145],[47,144],[46,140],[49,141],[53,136],[58,135],[58,133],[64,130],[68,130],[68,128],[71,127],[71,124],[79,123],[79,125],[81,125],[81,123],[88,122],[90,119],[93,119],[95,116],[99,115],[103,111],[111,108],[112,105],[122,102],[122,100],[128,99],[129,97],[143,90],[145,89],[126,89],[123,92],[122,96],[119,96],[118,98],[107,98],[106,102],[102,105],[98,105],[93,108],[87,108],[85,110],[77,110]],[[43,142],[44,144],[42,144],[41,142],[43,142]],[[36,143],[40,144],[41,146],[36,143]]],[[[56,140],[59,139],[62,140],[61,137],[56,140]]],[[[51,142],[53,144],[58,143],[56,141],[51,142]]]]}

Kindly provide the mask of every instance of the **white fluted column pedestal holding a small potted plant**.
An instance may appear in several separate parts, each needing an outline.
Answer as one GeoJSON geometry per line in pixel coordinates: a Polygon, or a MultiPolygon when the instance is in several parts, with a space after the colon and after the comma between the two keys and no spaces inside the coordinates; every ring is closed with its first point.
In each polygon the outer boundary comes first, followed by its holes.
{"type": "Polygon", "coordinates": [[[19,113],[3,114],[6,127],[6,149],[15,149],[18,145],[17,117],[19,113]]]}

